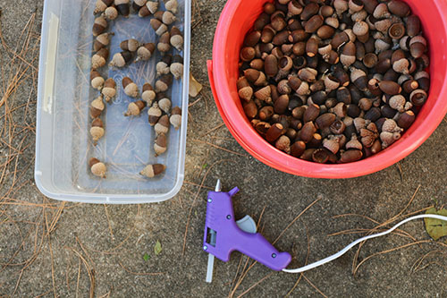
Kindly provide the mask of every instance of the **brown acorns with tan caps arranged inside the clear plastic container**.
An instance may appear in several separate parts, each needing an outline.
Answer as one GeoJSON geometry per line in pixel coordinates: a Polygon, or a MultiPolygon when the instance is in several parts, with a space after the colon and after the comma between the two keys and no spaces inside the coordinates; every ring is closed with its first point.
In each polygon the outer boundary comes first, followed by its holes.
{"type": "MultiPolygon", "coordinates": [[[[93,25],[94,55],[91,58],[90,81],[94,89],[101,91],[101,95],[93,100],[90,105],[90,115],[92,123],[90,135],[97,143],[105,134],[104,123],[101,115],[105,110],[105,102],[110,102],[116,96],[116,82],[113,78],[105,80],[98,70],[107,64],[109,57],[108,46],[113,32],[106,32],[108,21],[116,20],[120,15],[127,18],[131,11],[138,13],[140,18],[153,16],[150,19],[150,26],[159,36],[156,44],[152,42],[142,42],[134,38],[123,40],[120,44],[122,52],[114,54],[109,66],[122,68],[130,64],[136,56],[135,62],[146,62],[154,56],[158,50],[162,55],[161,61],[156,64],[155,88],[149,82],[142,86],[142,93],[139,94],[139,87],[131,78],[122,79],[122,89],[124,93],[137,100],[128,106],[125,116],[139,116],[146,106],[148,109],[148,123],[154,126],[156,140],[154,150],[156,156],[163,154],[167,149],[167,133],[170,123],[175,129],[181,125],[181,107],[172,106],[171,99],[164,93],[173,83],[173,79],[180,80],[183,76],[183,58],[181,55],[171,55],[169,52],[175,48],[180,54],[183,47],[183,37],[181,31],[173,25],[176,21],[175,13],[178,11],[177,0],[164,0],[164,10],[160,9],[160,3],[148,0],[97,0],[94,14],[97,15],[93,25]],[[141,99],[139,99],[141,98],[141,99]]],[[[149,30],[149,29],[148,29],[149,30]]],[[[89,168],[93,175],[105,178],[106,166],[97,158],[90,158],[89,168]]],[[[148,165],[140,175],[152,178],[164,172],[165,166],[161,164],[148,165]]]]}

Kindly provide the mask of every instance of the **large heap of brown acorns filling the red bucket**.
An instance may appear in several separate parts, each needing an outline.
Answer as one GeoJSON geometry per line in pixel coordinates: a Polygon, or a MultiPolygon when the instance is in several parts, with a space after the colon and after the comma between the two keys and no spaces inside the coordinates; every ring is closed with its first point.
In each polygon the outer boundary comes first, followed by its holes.
{"type": "Polygon", "coordinates": [[[240,50],[239,96],[277,149],[347,163],[392,145],[430,86],[419,18],[399,0],[266,3],[240,50]]]}

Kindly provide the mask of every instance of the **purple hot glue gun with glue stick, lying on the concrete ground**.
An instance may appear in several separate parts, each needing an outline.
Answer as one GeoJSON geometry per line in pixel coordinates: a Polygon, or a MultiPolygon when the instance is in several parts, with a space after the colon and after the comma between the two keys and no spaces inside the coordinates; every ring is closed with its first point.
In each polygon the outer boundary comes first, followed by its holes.
{"type": "Polygon", "coordinates": [[[291,262],[288,252],[279,252],[257,233],[257,226],[249,216],[236,221],[232,209],[232,196],[239,192],[237,187],[230,192],[221,192],[220,180],[215,185],[215,192],[208,192],[207,219],[203,250],[209,253],[207,282],[213,275],[214,257],[230,260],[232,251],[240,251],[251,259],[276,271],[286,268],[291,262]]]}

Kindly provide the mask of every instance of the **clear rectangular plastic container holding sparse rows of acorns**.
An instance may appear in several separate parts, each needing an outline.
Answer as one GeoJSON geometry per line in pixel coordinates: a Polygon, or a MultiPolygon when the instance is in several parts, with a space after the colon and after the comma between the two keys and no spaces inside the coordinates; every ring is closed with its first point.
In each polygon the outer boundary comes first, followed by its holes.
{"type": "MultiPolygon", "coordinates": [[[[122,90],[122,78],[129,76],[139,86],[156,81],[156,62],[131,64],[123,69],[103,67],[106,78],[114,78],[117,96],[105,104],[101,118],[105,136],[94,146],[89,136],[90,102],[99,91],[89,83],[92,42],[91,30],[96,1],[46,0],[42,22],[42,40],[38,75],[38,119],[35,178],[40,192],[56,200],[89,203],[148,203],[172,198],[181,189],[188,117],[190,78],[190,0],[179,0],[177,26],[184,35],[184,74],[174,80],[167,95],[173,106],[181,106],[179,130],[170,127],[168,149],[155,157],[155,132],[148,124],[148,107],[139,117],[125,117],[129,102],[122,90]],[[106,178],[91,175],[89,158],[98,158],[107,166],[106,178]],[[153,179],[139,175],[148,164],[164,164],[163,175],[153,179]]],[[[164,8],[163,1],[160,1],[164,8]]],[[[120,42],[136,38],[141,42],[158,40],[149,24],[151,17],[118,17],[109,21],[107,31],[114,31],[110,58],[118,52],[120,42]]],[[[171,26],[170,26],[171,27],[171,26]]]]}

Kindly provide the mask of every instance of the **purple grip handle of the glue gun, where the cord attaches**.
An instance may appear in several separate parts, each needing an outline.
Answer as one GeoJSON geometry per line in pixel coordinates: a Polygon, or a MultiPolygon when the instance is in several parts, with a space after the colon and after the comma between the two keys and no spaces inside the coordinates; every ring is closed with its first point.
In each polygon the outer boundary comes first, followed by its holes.
{"type": "Polygon", "coordinates": [[[249,234],[240,231],[238,237],[238,241],[235,242],[238,243],[236,250],[268,268],[280,271],[291,262],[291,255],[288,252],[277,251],[262,234],[249,234]]]}

